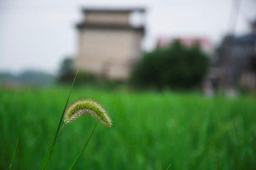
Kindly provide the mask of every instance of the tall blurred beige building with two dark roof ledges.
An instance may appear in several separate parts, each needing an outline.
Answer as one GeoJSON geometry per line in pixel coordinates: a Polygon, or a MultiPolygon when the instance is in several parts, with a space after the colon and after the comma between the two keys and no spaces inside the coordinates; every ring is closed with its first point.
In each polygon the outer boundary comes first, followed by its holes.
{"type": "Polygon", "coordinates": [[[75,67],[111,79],[128,78],[142,56],[145,27],[130,23],[134,12],[145,8],[83,8],[84,19],[77,24],[78,53],[75,67]]]}

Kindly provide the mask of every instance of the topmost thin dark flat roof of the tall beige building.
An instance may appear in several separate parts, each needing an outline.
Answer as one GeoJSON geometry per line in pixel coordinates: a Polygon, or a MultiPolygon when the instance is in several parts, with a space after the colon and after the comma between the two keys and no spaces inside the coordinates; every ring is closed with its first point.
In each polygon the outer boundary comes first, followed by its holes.
{"type": "Polygon", "coordinates": [[[83,12],[124,12],[124,13],[129,13],[129,12],[145,12],[145,8],[142,7],[137,7],[137,8],[93,8],[93,7],[84,7],[82,8],[83,12]]]}

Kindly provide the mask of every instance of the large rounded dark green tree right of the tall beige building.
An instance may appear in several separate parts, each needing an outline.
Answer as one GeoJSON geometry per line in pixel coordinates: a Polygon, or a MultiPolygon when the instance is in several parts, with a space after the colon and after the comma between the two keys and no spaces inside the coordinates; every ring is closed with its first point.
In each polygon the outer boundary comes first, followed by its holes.
{"type": "Polygon", "coordinates": [[[174,42],[168,48],[145,53],[132,73],[131,83],[157,89],[191,88],[201,83],[207,68],[207,56],[199,45],[187,48],[174,42]]]}

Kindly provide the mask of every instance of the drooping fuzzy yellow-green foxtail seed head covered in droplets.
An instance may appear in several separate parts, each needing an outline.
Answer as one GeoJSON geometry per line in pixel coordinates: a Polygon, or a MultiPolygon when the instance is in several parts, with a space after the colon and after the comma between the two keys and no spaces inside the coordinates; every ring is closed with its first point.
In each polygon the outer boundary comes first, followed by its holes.
{"type": "Polygon", "coordinates": [[[84,113],[89,113],[93,118],[101,120],[101,123],[106,127],[112,126],[112,120],[108,112],[100,103],[91,99],[81,99],[72,103],[65,111],[64,122],[67,124],[84,113]]]}

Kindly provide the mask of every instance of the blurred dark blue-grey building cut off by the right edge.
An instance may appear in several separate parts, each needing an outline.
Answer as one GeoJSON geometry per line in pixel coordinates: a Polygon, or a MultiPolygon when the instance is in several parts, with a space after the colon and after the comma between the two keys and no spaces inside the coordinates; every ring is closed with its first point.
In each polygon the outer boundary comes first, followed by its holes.
{"type": "Polygon", "coordinates": [[[256,89],[256,20],[250,25],[250,33],[231,37],[230,47],[226,46],[220,66],[225,85],[256,89]]]}

